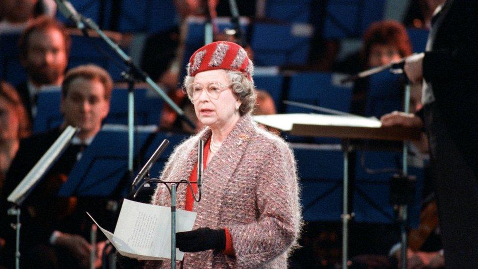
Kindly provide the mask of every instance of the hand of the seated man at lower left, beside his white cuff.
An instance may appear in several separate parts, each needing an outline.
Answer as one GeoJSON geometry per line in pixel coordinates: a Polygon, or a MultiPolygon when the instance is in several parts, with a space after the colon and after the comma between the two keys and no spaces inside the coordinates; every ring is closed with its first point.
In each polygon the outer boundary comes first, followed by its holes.
{"type": "Polygon", "coordinates": [[[90,262],[91,245],[81,236],[76,234],[60,233],[55,245],[66,248],[79,262],[81,268],[88,268],[90,262]]]}

